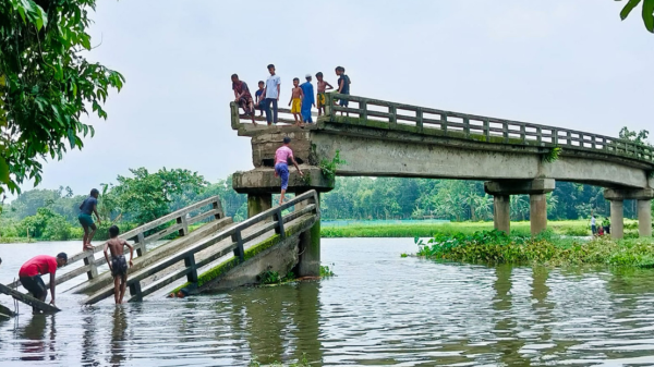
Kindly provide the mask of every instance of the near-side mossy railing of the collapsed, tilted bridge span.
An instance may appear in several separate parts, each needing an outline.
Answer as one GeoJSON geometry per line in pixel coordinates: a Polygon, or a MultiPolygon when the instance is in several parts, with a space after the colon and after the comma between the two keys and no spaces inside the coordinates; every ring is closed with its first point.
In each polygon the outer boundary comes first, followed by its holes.
{"type": "MultiPolygon", "coordinates": [[[[216,235],[202,240],[197,244],[183,252],[172,255],[171,257],[161,260],[134,274],[130,274],[128,279],[128,286],[130,288],[130,295],[132,296],[130,302],[141,301],[143,299],[143,297],[162,289],[164,286],[183,277],[186,277],[186,280],[189,282],[197,282],[197,269],[211,264],[213,261],[221,258],[225,255],[228,255],[229,253],[233,253],[234,257],[238,257],[240,259],[240,262],[243,262],[245,260],[245,243],[255,240],[256,237],[259,237],[272,230],[275,230],[275,233],[283,240],[287,236],[284,224],[306,213],[313,213],[319,219],[320,209],[318,206],[318,194],[315,191],[310,191],[302,195],[298,195],[294,198],[276,208],[261,212],[237,225],[233,225],[227,230],[219,232],[216,235]],[[299,208],[301,204],[303,205],[301,208],[299,208]],[[283,210],[292,206],[298,207],[295,207],[294,211],[284,215],[283,210]],[[255,225],[258,225],[261,223],[265,224],[254,229],[255,225]],[[202,259],[197,259],[195,257],[197,253],[210,246],[214,246],[227,238],[231,238],[231,244],[222,247],[219,252],[216,252],[215,254],[204,257],[202,259]],[[181,261],[184,261],[184,267],[182,269],[175,270],[171,273],[158,278],[155,283],[149,284],[145,289],[142,288],[141,282],[143,280],[154,274],[157,274],[181,261]]],[[[85,304],[95,304],[110,296],[111,294],[113,294],[113,289],[106,289],[99,293],[92,295],[85,301],[85,304]]]]}

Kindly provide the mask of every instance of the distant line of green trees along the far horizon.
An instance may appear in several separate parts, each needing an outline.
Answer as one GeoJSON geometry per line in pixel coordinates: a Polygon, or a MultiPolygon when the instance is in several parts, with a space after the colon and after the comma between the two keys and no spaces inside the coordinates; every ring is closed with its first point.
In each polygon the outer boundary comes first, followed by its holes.
{"type": "MultiPolygon", "coordinates": [[[[98,240],[113,223],[128,230],[215,195],[222,200],[227,216],[235,221],[246,218],[246,195],[232,189],[231,176],[208,183],[196,172],[183,169],[130,171],[130,176],[119,175],[116,184],[98,187],[98,212],[102,219],[98,240]]],[[[78,206],[87,195],[74,194],[70,187],[26,191],[4,206],[0,237],[80,237],[78,206]]],[[[336,188],[322,196],[320,206],[325,220],[493,220],[493,197],[484,193],[481,181],[337,178],[336,188]]],[[[601,187],[568,182],[556,183],[556,189],[548,194],[547,207],[549,219],[609,215],[601,187]]],[[[511,219],[529,220],[529,196],[511,196],[511,219]]],[[[635,203],[625,203],[625,215],[634,218],[635,203]]]]}

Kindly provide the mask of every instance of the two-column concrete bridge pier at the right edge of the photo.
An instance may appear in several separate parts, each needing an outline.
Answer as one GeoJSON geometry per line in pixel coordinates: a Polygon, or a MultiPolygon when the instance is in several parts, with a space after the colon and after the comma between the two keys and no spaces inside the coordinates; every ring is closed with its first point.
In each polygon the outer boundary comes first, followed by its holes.
{"type": "Polygon", "coordinates": [[[604,198],[610,200],[610,236],[625,236],[623,200],[638,200],[638,233],[641,237],[652,235],[652,198],[654,188],[606,188],[604,198]]]}

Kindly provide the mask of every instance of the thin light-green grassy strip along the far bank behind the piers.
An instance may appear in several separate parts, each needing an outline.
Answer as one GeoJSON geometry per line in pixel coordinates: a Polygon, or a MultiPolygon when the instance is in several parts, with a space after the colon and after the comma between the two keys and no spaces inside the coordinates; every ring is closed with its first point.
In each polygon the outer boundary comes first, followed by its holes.
{"type": "MultiPolygon", "coordinates": [[[[549,221],[547,228],[552,232],[564,236],[590,236],[591,229],[586,220],[564,220],[549,221]]],[[[462,233],[473,234],[477,231],[493,230],[493,222],[449,222],[449,223],[429,223],[420,222],[397,223],[397,224],[375,224],[359,222],[350,225],[323,227],[320,235],[323,237],[433,237],[436,234],[453,235],[462,233]]],[[[638,221],[625,220],[626,236],[634,235],[638,232],[638,221]]],[[[529,235],[531,233],[529,221],[511,222],[511,234],[529,235]]]]}

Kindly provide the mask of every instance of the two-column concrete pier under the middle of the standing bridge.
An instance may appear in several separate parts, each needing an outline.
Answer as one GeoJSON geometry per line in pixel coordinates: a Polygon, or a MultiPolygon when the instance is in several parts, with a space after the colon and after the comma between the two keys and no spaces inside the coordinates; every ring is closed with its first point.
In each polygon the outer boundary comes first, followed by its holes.
{"type": "Polygon", "coordinates": [[[531,233],[536,235],[547,229],[547,193],[554,191],[552,179],[529,181],[488,181],[484,183],[486,194],[494,196],[495,229],[509,233],[510,195],[530,196],[531,233]],[[506,230],[505,230],[506,228],[506,230]]]}

